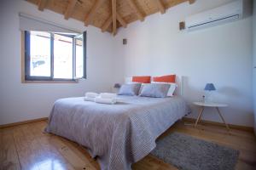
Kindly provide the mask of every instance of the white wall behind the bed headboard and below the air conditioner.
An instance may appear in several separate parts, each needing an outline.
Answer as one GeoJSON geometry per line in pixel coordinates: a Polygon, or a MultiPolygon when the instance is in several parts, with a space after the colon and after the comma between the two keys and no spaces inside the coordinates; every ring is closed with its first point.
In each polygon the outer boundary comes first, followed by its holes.
{"type": "MultiPolygon", "coordinates": [[[[119,60],[123,77],[170,73],[188,77],[184,97],[189,103],[201,100],[205,84],[213,82],[218,90],[212,98],[229,105],[221,109],[226,122],[253,127],[252,17],[200,31],[178,30],[178,22],[186,16],[228,2],[182,3],[119,30],[115,49],[123,59],[119,60]],[[128,39],[127,45],[121,44],[122,38],[128,39]]],[[[197,116],[198,108],[192,105],[192,109],[190,117],[197,116]]],[[[203,119],[220,122],[210,109],[203,119]]]]}

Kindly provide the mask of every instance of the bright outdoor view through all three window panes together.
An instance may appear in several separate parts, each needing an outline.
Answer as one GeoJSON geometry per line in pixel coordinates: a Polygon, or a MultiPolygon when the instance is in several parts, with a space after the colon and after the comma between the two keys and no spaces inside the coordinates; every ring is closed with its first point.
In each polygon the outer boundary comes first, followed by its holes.
{"type": "MultiPolygon", "coordinates": [[[[73,79],[73,37],[54,34],[53,77],[73,79]]],[[[84,76],[83,37],[75,39],[76,77],[84,76]]],[[[50,33],[30,32],[30,76],[50,77],[50,33]]]]}

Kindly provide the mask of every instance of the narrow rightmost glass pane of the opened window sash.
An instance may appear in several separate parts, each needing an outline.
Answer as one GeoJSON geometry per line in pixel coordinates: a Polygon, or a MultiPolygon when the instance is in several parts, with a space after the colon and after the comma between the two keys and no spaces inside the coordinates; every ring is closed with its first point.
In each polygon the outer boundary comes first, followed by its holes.
{"type": "Polygon", "coordinates": [[[76,77],[84,77],[84,48],[80,39],[76,39],[76,77]]]}

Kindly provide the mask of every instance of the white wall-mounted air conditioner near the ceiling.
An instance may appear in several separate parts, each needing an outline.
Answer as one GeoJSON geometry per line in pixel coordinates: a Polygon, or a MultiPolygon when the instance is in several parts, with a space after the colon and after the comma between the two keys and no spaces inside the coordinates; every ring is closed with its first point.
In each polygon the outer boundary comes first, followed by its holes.
{"type": "Polygon", "coordinates": [[[236,0],[218,8],[189,16],[185,20],[186,30],[193,31],[240,20],[253,14],[253,0],[236,0]]]}

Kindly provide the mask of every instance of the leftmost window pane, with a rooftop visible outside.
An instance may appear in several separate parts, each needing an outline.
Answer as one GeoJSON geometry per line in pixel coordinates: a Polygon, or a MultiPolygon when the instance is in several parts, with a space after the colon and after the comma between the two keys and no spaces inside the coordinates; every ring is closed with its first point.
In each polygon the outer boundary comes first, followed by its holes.
{"type": "Polygon", "coordinates": [[[50,77],[50,34],[30,32],[30,76],[50,77]]]}

